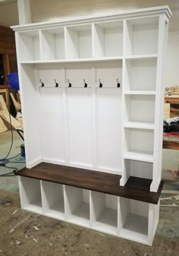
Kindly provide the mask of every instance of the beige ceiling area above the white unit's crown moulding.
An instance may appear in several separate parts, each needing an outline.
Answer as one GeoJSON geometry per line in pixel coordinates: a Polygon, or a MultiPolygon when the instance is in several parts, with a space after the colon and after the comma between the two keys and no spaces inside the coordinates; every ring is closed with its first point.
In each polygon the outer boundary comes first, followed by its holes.
{"type": "MultiPolygon", "coordinates": [[[[129,9],[169,5],[173,13],[169,30],[179,30],[178,0],[68,0],[63,2],[58,0],[30,0],[30,2],[33,22],[48,21],[58,17],[81,16],[95,12],[123,12],[129,9]],[[81,7],[82,2],[83,6],[81,7]]],[[[18,24],[17,0],[0,0],[0,25],[10,27],[16,24],[18,24]]]]}

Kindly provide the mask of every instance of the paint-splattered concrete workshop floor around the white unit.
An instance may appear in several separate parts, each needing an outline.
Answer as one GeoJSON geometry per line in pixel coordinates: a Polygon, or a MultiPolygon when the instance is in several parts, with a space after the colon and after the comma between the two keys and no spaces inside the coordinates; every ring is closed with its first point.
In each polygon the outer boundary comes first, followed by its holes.
{"type": "MultiPolygon", "coordinates": [[[[0,158],[8,152],[10,132],[0,134],[0,158]]],[[[23,141],[14,131],[10,156],[20,153],[23,141]]],[[[14,160],[24,160],[17,156],[14,160]]],[[[0,256],[178,256],[179,255],[179,179],[174,169],[179,151],[163,150],[162,178],[165,186],[161,197],[160,221],[152,247],[111,235],[53,220],[20,210],[17,178],[0,178],[0,256]]],[[[8,163],[21,169],[24,163],[8,163]]],[[[0,174],[9,172],[0,166],[0,174]]]]}

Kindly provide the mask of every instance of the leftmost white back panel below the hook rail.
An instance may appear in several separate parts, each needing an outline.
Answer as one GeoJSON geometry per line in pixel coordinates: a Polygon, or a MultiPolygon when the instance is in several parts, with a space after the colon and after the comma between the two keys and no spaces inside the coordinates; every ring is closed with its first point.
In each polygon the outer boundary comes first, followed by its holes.
{"type": "Polygon", "coordinates": [[[65,161],[61,88],[39,88],[40,135],[43,157],[65,161]]]}

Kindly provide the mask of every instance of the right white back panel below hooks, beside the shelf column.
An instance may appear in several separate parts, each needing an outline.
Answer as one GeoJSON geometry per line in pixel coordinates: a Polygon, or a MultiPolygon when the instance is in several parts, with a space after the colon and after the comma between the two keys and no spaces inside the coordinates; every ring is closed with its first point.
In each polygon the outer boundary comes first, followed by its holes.
{"type": "Polygon", "coordinates": [[[121,170],[120,89],[97,89],[96,122],[98,167],[121,170]]]}

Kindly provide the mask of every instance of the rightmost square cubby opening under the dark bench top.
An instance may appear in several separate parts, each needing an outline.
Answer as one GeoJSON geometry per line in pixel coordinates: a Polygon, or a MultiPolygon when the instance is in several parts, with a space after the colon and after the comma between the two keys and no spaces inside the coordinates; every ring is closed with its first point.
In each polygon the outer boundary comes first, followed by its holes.
{"type": "Polygon", "coordinates": [[[148,242],[149,204],[120,198],[120,236],[135,242],[148,242]]]}

